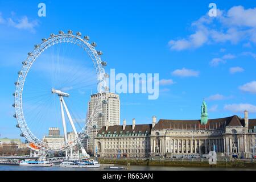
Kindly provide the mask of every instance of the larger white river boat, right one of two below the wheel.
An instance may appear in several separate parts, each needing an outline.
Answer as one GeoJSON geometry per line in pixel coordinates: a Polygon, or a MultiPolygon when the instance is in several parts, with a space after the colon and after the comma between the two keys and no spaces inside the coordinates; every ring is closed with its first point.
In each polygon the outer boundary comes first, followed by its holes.
{"type": "Polygon", "coordinates": [[[93,159],[68,159],[64,160],[60,167],[84,167],[84,168],[98,168],[101,164],[93,159]]]}

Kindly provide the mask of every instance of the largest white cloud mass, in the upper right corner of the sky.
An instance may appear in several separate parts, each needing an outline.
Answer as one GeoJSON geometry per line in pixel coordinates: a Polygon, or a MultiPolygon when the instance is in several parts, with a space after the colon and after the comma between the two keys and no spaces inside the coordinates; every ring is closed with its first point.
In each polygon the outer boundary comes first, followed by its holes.
{"type": "Polygon", "coordinates": [[[170,40],[170,49],[181,51],[199,48],[208,43],[237,44],[241,40],[256,43],[256,8],[234,6],[228,12],[217,10],[217,17],[205,14],[193,22],[191,27],[195,32],[187,38],[170,40]]]}

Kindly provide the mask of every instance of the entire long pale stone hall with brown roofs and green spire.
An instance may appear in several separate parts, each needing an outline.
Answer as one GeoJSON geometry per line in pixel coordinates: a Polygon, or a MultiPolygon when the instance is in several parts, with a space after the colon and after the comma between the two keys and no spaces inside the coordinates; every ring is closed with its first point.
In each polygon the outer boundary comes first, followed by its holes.
{"type": "Polygon", "coordinates": [[[201,119],[170,120],[152,117],[147,125],[104,126],[98,132],[94,155],[99,157],[147,158],[151,156],[203,155],[216,151],[223,156],[237,154],[243,158],[255,155],[256,119],[233,115],[208,119],[205,101],[201,119]]]}

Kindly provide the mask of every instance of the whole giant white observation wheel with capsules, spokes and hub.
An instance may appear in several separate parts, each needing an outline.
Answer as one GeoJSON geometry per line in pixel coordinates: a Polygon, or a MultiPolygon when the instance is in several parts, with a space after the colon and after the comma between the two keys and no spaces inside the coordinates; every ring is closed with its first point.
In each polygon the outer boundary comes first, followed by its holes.
{"type": "Polygon", "coordinates": [[[102,100],[98,97],[88,113],[89,96],[92,92],[108,92],[106,62],[96,46],[80,32],[74,35],[71,30],[67,34],[59,31],[36,44],[22,62],[13,93],[14,117],[20,135],[34,149],[63,151],[81,144],[95,127],[102,100]],[[61,136],[55,136],[64,138],[58,147],[43,139],[49,127],[62,129],[61,136]],[[71,132],[75,135],[72,141],[68,138],[71,132]]]}

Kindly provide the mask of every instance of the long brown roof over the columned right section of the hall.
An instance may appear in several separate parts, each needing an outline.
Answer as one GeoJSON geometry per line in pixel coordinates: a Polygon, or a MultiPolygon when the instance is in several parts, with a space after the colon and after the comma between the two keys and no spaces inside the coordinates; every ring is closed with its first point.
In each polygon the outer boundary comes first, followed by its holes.
{"type": "Polygon", "coordinates": [[[154,130],[162,129],[221,129],[224,126],[243,126],[244,121],[237,115],[226,118],[208,119],[207,125],[201,125],[200,119],[197,120],[168,120],[160,119],[155,125],[154,130]]]}

